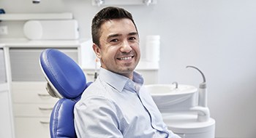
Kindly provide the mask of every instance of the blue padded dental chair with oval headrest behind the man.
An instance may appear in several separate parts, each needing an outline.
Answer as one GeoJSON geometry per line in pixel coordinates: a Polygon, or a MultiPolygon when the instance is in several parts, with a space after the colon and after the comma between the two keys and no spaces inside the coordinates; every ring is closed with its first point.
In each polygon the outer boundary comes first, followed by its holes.
{"type": "Polygon", "coordinates": [[[50,137],[75,138],[74,105],[91,82],[86,84],[83,70],[57,49],[45,49],[39,63],[47,80],[48,93],[60,99],[50,115],[50,137]]]}

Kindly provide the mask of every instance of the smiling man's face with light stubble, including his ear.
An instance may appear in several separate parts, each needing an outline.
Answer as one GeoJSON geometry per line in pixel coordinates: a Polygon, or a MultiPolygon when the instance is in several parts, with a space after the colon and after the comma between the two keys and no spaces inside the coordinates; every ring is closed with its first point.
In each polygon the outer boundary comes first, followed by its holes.
{"type": "Polygon", "coordinates": [[[93,47],[102,68],[132,78],[140,60],[139,37],[132,20],[108,20],[102,24],[100,33],[100,46],[93,47]]]}

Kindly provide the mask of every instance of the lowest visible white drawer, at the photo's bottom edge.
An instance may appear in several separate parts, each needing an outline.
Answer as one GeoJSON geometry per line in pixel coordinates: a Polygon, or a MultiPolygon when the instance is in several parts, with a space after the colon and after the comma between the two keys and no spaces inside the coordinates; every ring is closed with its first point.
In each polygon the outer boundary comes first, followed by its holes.
{"type": "Polygon", "coordinates": [[[15,118],[16,138],[46,138],[49,130],[49,118],[15,118]]]}

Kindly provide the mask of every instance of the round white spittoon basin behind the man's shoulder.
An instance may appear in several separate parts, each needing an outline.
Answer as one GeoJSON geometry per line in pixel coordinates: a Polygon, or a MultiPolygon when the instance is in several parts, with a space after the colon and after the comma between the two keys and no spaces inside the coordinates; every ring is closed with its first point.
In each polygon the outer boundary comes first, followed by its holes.
{"type": "Polygon", "coordinates": [[[195,86],[152,84],[145,86],[162,113],[189,110],[197,105],[195,86]]]}

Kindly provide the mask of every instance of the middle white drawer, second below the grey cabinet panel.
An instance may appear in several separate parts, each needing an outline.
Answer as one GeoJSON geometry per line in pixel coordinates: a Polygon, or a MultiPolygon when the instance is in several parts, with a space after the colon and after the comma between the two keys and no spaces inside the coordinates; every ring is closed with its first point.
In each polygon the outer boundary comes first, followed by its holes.
{"type": "Polygon", "coordinates": [[[51,104],[15,104],[14,114],[15,117],[50,117],[53,106],[51,104]]]}

